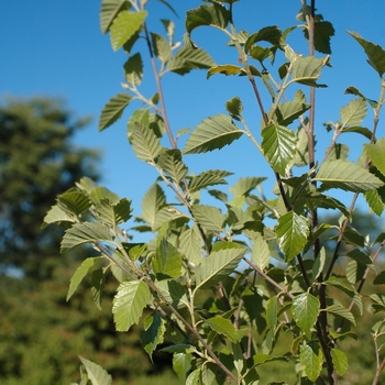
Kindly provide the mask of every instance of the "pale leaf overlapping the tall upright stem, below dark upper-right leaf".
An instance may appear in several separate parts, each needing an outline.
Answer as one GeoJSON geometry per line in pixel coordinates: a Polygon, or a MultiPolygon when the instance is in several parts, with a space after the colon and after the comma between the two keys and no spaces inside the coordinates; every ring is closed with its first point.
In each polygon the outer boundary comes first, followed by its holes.
{"type": "Polygon", "coordinates": [[[306,86],[324,87],[318,85],[316,80],[321,76],[323,59],[315,56],[301,57],[298,56],[293,62],[293,79],[306,86]]]}

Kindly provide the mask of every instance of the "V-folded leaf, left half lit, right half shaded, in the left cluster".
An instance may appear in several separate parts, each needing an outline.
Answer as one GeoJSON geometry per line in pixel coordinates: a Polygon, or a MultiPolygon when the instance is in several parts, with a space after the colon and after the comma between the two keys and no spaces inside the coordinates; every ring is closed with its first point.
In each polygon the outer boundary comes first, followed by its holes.
{"type": "Polygon", "coordinates": [[[125,198],[112,204],[109,199],[101,199],[96,207],[99,220],[108,226],[116,227],[127,222],[131,218],[131,200],[125,198]]]}

